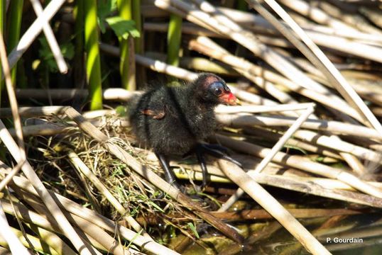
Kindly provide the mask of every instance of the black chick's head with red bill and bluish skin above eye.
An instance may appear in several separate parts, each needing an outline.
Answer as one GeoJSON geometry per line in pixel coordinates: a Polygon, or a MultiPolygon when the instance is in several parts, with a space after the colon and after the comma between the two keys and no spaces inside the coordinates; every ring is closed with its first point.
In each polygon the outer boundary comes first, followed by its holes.
{"type": "Polygon", "coordinates": [[[205,103],[236,105],[236,96],[232,94],[224,80],[217,75],[209,73],[200,74],[194,81],[194,84],[196,86],[195,93],[205,103]]]}

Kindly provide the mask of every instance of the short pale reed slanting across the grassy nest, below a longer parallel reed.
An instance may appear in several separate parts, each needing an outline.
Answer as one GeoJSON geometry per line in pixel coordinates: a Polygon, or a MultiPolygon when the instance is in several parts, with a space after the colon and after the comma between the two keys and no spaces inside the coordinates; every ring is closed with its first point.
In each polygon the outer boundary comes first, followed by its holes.
{"type": "Polygon", "coordinates": [[[131,227],[133,227],[133,229],[136,232],[141,232],[141,234],[144,237],[152,239],[150,237],[150,235],[148,235],[148,233],[145,231],[145,229],[143,229],[141,227],[141,225],[139,225],[138,222],[136,222],[136,220],[134,220],[133,217],[131,217],[130,215],[127,215],[129,212],[127,212],[125,210],[124,206],[121,205],[121,203],[119,203],[119,201],[116,200],[116,198],[114,198],[114,196],[110,193],[110,191],[104,186],[102,181],[99,181],[97,176],[95,176],[95,174],[93,174],[93,172],[87,167],[86,164],[84,164],[84,162],[82,162],[80,157],[78,157],[78,155],[75,152],[70,151],[68,156],[69,156],[70,162],[72,162],[72,164],[75,166],[75,168],[78,171],[80,171],[82,174],[84,174],[84,176],[87,176],[87,178],[90,181],[92,181],[94,186],[96,186],[96,188],[102,193],[102,195],[104,195],[104,197],[107,198],[109,203],[111,203],[111,205],[113,205],[114,208],[116,208],[116,210],[122,215],[124,220],[126,220],[126,222],[128,222],[129,225],[131,225],[131,227]]]}

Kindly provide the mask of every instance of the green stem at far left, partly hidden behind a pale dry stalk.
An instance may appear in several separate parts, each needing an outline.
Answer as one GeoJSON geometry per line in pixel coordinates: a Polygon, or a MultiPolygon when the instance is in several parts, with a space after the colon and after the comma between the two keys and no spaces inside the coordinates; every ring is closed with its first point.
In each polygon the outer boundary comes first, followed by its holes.
{"type": "MultiPolygon", "coordinates": [[[[1,1],[4,2],[4,1],[1,1]]],[[[23,16],[23,0],[13,0],[9,4],[8,16],[8,51],[16,47],[20,39],[21,17],[23,16]]],[[[3,5],[3,4],[2,4],[3,5]]],[[[4,7],[3,7],[4,8],[4,7]]],[[[4,9],[3,9],[4,11],[4,9]]],[[[11,70],[12,84],[16,86],[17,64],[11,70]]]]}

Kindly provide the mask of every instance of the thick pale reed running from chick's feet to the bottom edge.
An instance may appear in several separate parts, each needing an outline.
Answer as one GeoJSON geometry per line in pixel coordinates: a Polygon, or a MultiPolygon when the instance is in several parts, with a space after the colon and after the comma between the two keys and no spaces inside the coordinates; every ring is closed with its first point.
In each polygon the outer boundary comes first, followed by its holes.
{"type": "Polygon", "coordinates": [[[275,217],[285,229],[293,234],[293,237],[305,246],[305,248],[312,254],[330,254],[310,232],[301,225],[298,220],[295,219],[290,212],[283,208],[271,194],[269,194],[263,187],[261,187],[256,181],[251,179],[242,169],[231,162],[219,159],[220,168],[226,174],[229,179],[234,181],[240,188],[242,188],[253,200],[255,200],[262,208],[264,208],[269,214],[275,217]]]}

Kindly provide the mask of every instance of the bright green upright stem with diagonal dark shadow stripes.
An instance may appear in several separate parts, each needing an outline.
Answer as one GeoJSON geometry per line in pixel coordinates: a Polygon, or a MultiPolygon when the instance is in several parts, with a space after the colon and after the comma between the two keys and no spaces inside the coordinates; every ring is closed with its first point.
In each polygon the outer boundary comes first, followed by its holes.
{"type": "Polygon", "coordinates": [[[84,40],[90,110],[102,109],[101,61],[98,46],[97,1],[84,0],[84,40]]]}

